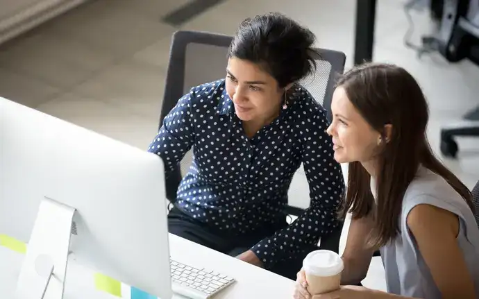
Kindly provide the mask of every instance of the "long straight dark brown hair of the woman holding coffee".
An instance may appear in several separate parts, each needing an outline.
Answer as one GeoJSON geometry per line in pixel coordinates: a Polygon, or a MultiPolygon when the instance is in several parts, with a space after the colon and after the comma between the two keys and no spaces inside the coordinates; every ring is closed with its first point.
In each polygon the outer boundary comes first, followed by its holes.
{"type": "Polygon", "coordinates": [[[384,246],[396,237],[403,196],[419,164],[442,176],[473,209],[469,189],[431,151],[426,138],[428,103],[417,81],[405,69],[368,63],[346,72],[337,86],[344,89],[354,107],[383,140],[385,125],[392,125],[390,139],[378,153],[377,205],[373,205],[369,173],[360,162],[349,164],[341,214],[344,217],[351,212],[353,219],[373,217],[376,230],[371,232],[371,246],[384,246]]]}

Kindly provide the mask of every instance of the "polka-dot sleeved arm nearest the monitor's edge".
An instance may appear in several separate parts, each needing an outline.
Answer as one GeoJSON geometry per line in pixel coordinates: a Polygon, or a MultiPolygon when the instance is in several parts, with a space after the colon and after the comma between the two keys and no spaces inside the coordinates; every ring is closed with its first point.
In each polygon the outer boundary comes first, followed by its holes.
{"type": "Polygon", "coordinates": [[[163,120],[159,133],[148,151],[162,157],[167,172],[173,171],[194,144],[191,99],[194,91],[183,96],[163,120]]]}

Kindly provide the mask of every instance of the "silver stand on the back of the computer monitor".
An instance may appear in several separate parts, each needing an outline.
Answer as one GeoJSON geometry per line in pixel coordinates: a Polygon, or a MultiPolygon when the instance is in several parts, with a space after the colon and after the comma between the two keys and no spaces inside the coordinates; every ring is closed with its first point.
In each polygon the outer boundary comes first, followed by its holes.
{"type": "Polygon", "coordinates": [[[75,209],[51,198],[40,203],[20,271],[18,299],[62,299],[75,209]]]}

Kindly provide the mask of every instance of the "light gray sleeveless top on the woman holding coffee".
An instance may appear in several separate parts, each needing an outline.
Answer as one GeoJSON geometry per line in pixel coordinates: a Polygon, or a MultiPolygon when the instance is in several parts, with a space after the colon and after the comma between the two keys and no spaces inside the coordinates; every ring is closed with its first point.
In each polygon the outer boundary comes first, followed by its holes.
{"type": "MultiPolygon", "coordinates": [[[[376,194],[375,182],[372,179],[371,191],[376,194]]],[[[476,298],[479,298],[479,228],[473,212],[446,180],[424,167],[419,168],[417,177],[405,192],[399,219],[401,232],[394,241],[380,248],[388,293],[425,299],[442,297],[412,233],[407,228],[407,214],[419,204],[434,205],[459,217],[457,244],[462,249],[473,278],[476,298]]]]}

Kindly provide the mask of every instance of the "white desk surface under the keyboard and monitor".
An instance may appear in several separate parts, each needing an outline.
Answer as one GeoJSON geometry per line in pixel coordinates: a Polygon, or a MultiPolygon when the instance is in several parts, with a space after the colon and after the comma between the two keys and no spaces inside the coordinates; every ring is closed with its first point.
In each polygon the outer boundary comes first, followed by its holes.
{"type": "MultiPolygon", "coordinates": [[[[169,235],[171,258],[178,262],[203,266],[235,277],[236,282],[216,298],[292,298],[294,282],[262,268],[205,248],[173,234],[169,235]],[[196,257],[193,257],[196,255],[196,257]]],[[[0,298],[14,298],[15,285],[24,255],[0,246],[0,298]]],[[[75,262],[69,262],[65,299],[118,299],[94,287],[94,273],[75,262]]],[[[130,299],[129,287],[122,285],[122,297],[130,299]]],[[[175,296],[175,299],[181,298],[175,296]]]]}

